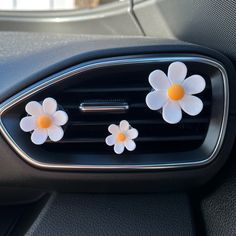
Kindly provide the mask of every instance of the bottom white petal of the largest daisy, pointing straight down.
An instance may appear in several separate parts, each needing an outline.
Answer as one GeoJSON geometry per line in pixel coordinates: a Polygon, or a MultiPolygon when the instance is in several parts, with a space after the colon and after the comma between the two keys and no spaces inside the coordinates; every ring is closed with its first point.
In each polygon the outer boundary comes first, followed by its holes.
{"type": "Polygon", "coordinates": [[[162,111],[163,119],[170,124],[176,124],[182,119],[182,111],[178,102],[169,101],[162,111]]]}

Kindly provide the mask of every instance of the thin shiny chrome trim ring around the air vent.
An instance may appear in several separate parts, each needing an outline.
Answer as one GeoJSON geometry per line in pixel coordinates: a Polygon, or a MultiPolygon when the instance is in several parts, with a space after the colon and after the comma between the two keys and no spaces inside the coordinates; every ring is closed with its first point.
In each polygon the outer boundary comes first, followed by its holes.
{"type": "Polygon", "coordinates": [[[0,131],[2,135],[6,138],[11,147],[28,163],[32,164],[35,167],[46,168],[46,169],[71,169],[71,170],[148,170],[148,169],[173,169],[173,168],[185,168],[185,167],[197,167],[208,164],[212,162],[217,156],[226,131],[227,120],[228,120],[228,109],[229,109],[229,88],[228,88],[228,78],[227,72],[224,69],[223,65],[219,62],[212,60],[210,58],[199,57],[199,56],[185,56],[185,57],[129,57],[129,58],[112,58],[110,60],[96,62],[91,61],[88,63],[80,64],[78,66],[72,67],[68,70],[62,71],[54,76],[46,78],[29,88],[23,90],[22,92],[16,94],[12,98],[8,99],[0,105],[0,131]],[[168,163],[168,164],[150,164],[150,165],[60,165],[60,164],[49,164],[43,163],[34,160],[29,155],[27,155],[12,139],[11,135],[8,133],[4,127],[2,116],[3,114],[10,109],[12,106],[16,105],[19,102],[24,101],[29,96],[33,95],[36,92],[42,91],[43,89],[51,86],[57,82],[63,81],[68,77],[76,75],[80,72],[85,72],[94,68],[101,68],[109,65],[120,65],[120,64],[133,64],[133,63],[148,63],[148,62],[171,62],[171,61],[183,61],[183,62],[201,62],[217,68],[223,78],[223,89],[224,89],[224,110],[223,117],[220,126],[219,138],[215,145],[215,148],[212,154],[202,161],[195,162],[183,162],[183,163],[168,163]]]}

